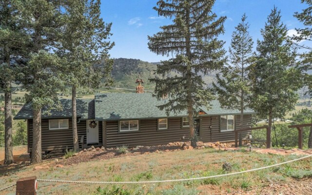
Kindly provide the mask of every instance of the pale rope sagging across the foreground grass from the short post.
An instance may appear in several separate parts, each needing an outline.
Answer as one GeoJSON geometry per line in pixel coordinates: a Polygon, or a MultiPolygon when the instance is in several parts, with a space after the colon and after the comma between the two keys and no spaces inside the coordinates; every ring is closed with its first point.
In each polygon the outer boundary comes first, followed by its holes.
{"type": "Polygon", "coordinates": [[[262,169],[268,169],[271,167],[276,167],[279,165],[291,163],[297,160],[302,160],[304,158],[309,158],[312,157],[312,155],[308,156],[303,156],[300,158],[296,158],[293,160],[289,160],[286,162],[281,162],[278,164],[266,166],[266,167],[260,167],[256,169],[251,169],[247,171],[241,171],[241,172],[235,172],[235,173],[229,173],[229,174],[223,174],[223,175],[216,175],[216,176],[204,176],[204,177],[195,177],[195,178],[186,178],[186,179],[171,179],[171,180],[158,180],[158,181],[69,181],[69,180],[52,180],[52,179],[37,179],[37,181],[44,181],[44,182],[59,182],[59,183],[87,183],[87,184],[143,184],[143,183],[165,183],[165,182],[176,182],[176,181],[192,181],[192,180],[199,180],[199,179],[209,179],[209,178],[215,178],[215,177],[222,177],[222,176],[233,176],[233,175],[238,175],[238,174],[243,174],[243,173],[248,173],[248,172],[254,172],[254,171],[259,171],[262,169]]]}

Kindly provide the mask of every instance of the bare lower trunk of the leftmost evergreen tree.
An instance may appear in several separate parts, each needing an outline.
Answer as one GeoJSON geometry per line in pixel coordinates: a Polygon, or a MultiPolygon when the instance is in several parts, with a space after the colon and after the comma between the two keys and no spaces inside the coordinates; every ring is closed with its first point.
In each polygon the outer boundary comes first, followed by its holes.
{"type": "MultiPolygon", "coordinates": [[[[11,83],[8,85],[11,89],[11,83]]],[[[13,163],[13,142],[12,142],[12,94],[11,91],[4,93],[4,137],[5,151],[4,164],[13,163]]]]}

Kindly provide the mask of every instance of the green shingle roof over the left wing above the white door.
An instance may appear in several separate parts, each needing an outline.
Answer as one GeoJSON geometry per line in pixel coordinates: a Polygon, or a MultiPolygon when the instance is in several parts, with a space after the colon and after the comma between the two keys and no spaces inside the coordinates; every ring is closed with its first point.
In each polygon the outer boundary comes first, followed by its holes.
{"type": "MultiPolygon", "coordinates": [[[[60,99],[63,110],[51,110],[51,115],[42,115],[41,118],[70,118],[72,117],[72,100],[60,99]]],[[[81,119],[94,119],[94,99],[77,99],[77,117],[81,119]]],[[[42,109],[44,113],[45,109],[42,109]]],[[[14,119],[31,119],[33,118],[33,109],[31,103],[25,104],[14,119]]]]}

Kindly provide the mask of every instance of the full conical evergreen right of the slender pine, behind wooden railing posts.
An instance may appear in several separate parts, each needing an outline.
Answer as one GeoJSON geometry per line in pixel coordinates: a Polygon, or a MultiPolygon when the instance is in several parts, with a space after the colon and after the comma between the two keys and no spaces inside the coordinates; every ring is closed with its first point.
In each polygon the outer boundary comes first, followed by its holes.
{"type": "Polygon", "coordinates": [[[296,52],[286,36],[287,28],[281,22],[280,11],[274,7],[264,29],[263,40],[257,40],[257,56],[252,67],[252,107],[260,117],[268,117],[269,135],[273,118],[284,118],[294,109],[300,88],[300,71],[294,67],[296,52]]]}

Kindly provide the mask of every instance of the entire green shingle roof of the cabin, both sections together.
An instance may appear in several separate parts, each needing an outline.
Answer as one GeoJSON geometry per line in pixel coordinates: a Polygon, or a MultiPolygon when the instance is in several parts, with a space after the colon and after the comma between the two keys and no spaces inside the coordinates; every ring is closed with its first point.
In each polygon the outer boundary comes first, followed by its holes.
{"type": "MultiPolygon", "coordinates": [[[[61,99],[63,110],[51,110],[51,115],[42,115],[42,118],[70,118],[72,117],[71,99],[61,99]]],[[[96,94],[95,99],[77,99],[77,117],[80,119],[118,120],[168,117],[165,111],[160,111],[157,106],[168,100],[157,101],[152,94],[96,94]]],[[[222,109],[217,100],[211,102],[210,109],[200,108],[207,115],[240,114],[239,110],[222,109]]],[[[199,110],[198,110],[199,111],[199,110]]],[[[44,109],[42,110],[44,112],[44,109]]],[[[245,110],[245,114],[254,113],[245,110]]],[[[178,114],[170,113],[169,117],[187,116],[187,112],[178,114]]],[[[33,110],[31,103],[25,104],[14,119],[31,119],[33,110]]]]}

